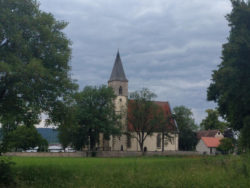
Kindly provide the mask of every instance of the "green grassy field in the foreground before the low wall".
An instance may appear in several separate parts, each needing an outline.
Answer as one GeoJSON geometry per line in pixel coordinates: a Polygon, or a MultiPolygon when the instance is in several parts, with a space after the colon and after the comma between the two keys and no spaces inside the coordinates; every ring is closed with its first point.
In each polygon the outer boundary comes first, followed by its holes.
{"type": "Polygon", "coordinates": [[[247,156],[12,160],[17,187],[250,187],[247,156]]]}

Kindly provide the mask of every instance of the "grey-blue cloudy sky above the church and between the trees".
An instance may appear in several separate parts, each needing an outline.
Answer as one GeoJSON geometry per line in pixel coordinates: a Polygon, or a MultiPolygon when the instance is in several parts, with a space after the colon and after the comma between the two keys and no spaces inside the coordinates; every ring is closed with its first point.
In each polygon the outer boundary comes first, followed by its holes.
{"type": "Polygon", "coordinates": [[[129,91],[149,88],[171,107],[192,109],[197,123],[229,27],[229,0],[40,0],[68,22],[72,75],[80,88],[107,84],[117,49],[129,91]]]}

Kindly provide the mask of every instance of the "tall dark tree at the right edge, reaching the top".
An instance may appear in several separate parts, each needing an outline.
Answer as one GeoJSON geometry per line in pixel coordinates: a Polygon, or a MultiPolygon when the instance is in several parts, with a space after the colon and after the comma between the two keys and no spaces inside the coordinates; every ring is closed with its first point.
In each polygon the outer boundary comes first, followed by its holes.
{"type": "Polygon", "coordinates": [[[232,11],[227,15],[231,30],[223,45],[222,62],[212,74],[207,98],[218,103],[219,113],[234,130],[249,130],[250,2],[231,2],[232,11]]]}

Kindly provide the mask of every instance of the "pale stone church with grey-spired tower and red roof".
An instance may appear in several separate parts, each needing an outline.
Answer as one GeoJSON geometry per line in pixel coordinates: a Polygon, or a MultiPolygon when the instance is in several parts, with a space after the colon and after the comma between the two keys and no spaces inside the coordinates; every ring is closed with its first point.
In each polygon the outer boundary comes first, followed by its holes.
{"type": "MultiPolygon", "coordinates": [[[[116,95],[115,110],[117,113],[123,113],[121,119],[122,133],[131,131],[131,135],[122,134],[121,136],[111,136],[110,140],[102,140],[99,143],[100,148],[108,148],[111,151],[140,151],[139,143],[135,138],[136,132],[132,132],[131,125],[127,121],[127,112],[129,108],[128,99],[128,79],[126,78],[119,51],[117,52],[111,76],[108,80],[108,86],[113,88],[116,95]]],[[[171,115],[171,108],[168,102],[154,101],[156,105],[162,107],[165,115],[171,115]]],[[[167,125],[166,125],[167,126],[167,125]]],[[[144,151],[162,151],[162,144],[164,143],[164,151],[177,151],[178,150],[178,128],[175,121],[170,127],[171,139],[165,139],[162,142],[161,132],[155,130],[151,136],[147,136],[144,141],[144,151]]]]}

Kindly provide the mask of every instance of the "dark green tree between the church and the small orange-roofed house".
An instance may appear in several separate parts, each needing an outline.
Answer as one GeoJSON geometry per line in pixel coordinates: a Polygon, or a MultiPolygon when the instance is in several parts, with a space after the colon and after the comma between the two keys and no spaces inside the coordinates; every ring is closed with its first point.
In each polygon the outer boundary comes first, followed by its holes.
{"type": "Polygon", "coordinates": [[[192,111],[185,106],[176,106],[173,112],[179,129],[179,149],[194,150],[197,144],[195,132],[198,126],[195,124],[192,111]]]}

